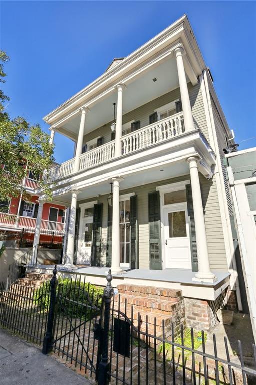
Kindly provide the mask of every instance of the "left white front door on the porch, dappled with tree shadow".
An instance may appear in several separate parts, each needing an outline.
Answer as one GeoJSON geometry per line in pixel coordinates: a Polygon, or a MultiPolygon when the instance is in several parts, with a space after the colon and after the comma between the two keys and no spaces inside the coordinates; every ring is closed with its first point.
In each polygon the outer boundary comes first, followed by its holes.
{"type": "Polygon", "coordinates": [[[90,265],[93,217],[82,219],[79,231],[77,265],[90,265]]]}

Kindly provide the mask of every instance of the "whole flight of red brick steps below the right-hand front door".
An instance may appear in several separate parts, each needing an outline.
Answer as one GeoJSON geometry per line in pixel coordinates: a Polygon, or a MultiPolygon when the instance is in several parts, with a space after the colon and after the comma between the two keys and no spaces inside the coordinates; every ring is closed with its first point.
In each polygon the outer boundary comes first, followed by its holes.
{"type": "MultiPolygon", "coordinates": [[[[140,325],[140,331],[158,337],[168,338],[180,332],[180,325],[185,324],[185,308],[181,290],[157,288],[153,286],[127,285],[117,286],[119,296],[115,296],[114,308],[126,313],[131,319],[133,307],[134,326],[140,325]],[[146,322],[147,321],[147,322],[146,322]]],[[[140,339],[145,339],[140,336],[140,339]]],[[[160,341],[159,341],[160,343],[160,341]]]]}

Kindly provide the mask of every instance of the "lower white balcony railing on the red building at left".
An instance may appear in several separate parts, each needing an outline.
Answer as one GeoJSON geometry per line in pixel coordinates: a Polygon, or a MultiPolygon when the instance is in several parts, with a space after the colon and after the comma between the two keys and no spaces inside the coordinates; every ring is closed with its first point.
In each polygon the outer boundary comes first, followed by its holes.
{"type": "MultiPolygon", "coordinates": [[[[16,224],[17,215],[16,214],[7,214],[0,213],[0,225],[6,227],[19,227],[26,230],[35,230],[36,218],[23,217],[19,216],[18,224],[16,224]],[[17,225],[17,226],[16,226],[17,225]]],[[[47,221],[42,219],[41,221],[41,233],[43,232],[54,232],[58,234],[63,234],[65,230],[65,224],[62,222],[47,221]]]]}

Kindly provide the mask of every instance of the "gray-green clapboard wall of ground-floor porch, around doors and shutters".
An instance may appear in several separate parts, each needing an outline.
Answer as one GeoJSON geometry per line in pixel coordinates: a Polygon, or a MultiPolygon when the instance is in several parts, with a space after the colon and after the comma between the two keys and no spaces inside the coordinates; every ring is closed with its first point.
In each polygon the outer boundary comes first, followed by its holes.
{"type": "MultiPolygon", "coordinates": [[[[139,267],[149,269],[149,227],[148,227],[148,193],[155,191],[157,186],[175,183],[189,179],[189,175],[157,181],[131,189],[120,190],[120,195],[135,193],[138,195],[138,226],[139,226],[139,267]]],[[[208,243],[210,267],[213,270],[227,271],[225,257],[225,246],[223,230],[220,217],[220,209],[217,198],[216,183],[213,180],[206,180],[200,175],[202,184],[202,198],[205,206],[205,225],[208,243]]],[[[102,230],[102,249],[101,262],[104,265],[106,259],[107,241],[107,195],[89,201],[98,200],[103,203],[103,230],[102,230]]],[[[88,200],[87,200],[88,201],[88,200]]],[[[86,201],[78,202],[83,203],[86,201]]]]}

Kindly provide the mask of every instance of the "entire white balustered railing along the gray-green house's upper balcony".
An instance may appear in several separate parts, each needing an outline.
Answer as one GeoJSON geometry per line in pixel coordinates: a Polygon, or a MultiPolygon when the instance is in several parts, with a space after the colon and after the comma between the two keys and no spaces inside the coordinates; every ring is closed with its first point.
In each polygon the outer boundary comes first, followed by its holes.
{"type": "MultiPolygon", "coordinates": [[[[194,129],[198,126],[194,121],[194,129]]],[[[150,147],[154,144],[175,138],[185,132],[183,112],[162,119],[121,137],[122,154],[150,147]]],[[[114,158],[115,142],[111,141],[80,155],[79,172],[103,164],[114,158]]],[[[51,168],[49,179],[56,180],[73,173],[74,158],[51,168]]]]}

